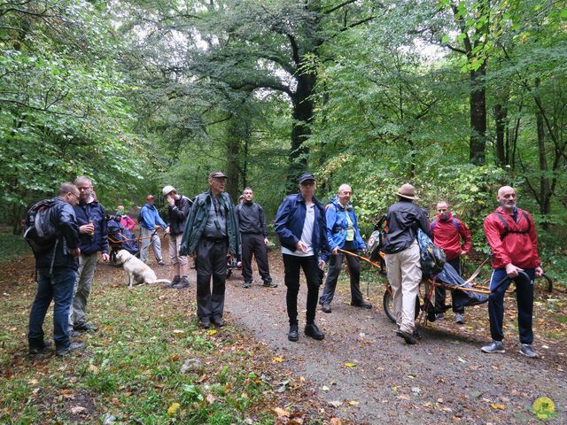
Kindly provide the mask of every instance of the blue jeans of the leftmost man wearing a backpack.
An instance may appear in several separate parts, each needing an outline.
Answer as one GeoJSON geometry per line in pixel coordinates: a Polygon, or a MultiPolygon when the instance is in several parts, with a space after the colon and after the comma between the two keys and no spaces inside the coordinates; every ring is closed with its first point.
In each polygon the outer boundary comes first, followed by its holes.
{"type": "Polygon", "coordinates": [[[29,312],[29,332],[27,341],[30,348],[43,348],[43,321],[51,304],[53,308],[53,339],[57,349],[66,349],[69,339],[68,321],[73,303],[74,282],[77,272],[71,268],[60,268],[49,274],[47,270],[37,270],[37,293],[29,312]]]}

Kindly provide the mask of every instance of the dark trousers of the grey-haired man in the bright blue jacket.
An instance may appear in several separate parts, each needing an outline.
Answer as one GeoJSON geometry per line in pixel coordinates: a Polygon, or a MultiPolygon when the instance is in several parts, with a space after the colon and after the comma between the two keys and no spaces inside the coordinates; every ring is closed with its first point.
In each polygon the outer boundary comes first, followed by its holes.
{"type": "MultiPolygon", "coordinates": [[[[345,243],[345,251],[354,252],[353,243],[345,243]]],[[[351,303],[358,305],[363,301],[361,294],[361,260],[352,255],[338,252],[337,255],[330,256],[329,273],[325,280],[325,288],[322,290],[322,296],[319,298],[319,304],[330,304],[335,296],[337,288],[338,274],[343,265],[343,259],[346,257],[348,272],[351,275],[351,303]]]]}

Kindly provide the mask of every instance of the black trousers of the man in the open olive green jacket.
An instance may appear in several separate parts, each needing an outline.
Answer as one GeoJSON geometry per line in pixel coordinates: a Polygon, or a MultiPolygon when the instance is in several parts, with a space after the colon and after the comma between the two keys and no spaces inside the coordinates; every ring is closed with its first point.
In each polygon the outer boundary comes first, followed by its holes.
{"type": "Polygon", "coordinates": [[[198,317],[222,316],[228,251],[228,239],[213,241],[202,237],[198,242],[195,261],[198,317]],[[212,290],[211,277],[213,277],[212,290]]]}

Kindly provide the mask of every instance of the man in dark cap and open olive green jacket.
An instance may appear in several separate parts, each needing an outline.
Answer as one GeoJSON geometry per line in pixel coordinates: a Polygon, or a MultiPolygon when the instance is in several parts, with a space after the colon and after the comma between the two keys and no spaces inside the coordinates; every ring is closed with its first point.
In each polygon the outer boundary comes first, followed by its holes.
{"type": "Polygon", "coordinates": [[[195,257],[197,268],[197,315],[204,328],[221,327],[227,275],[227,253],[237,256],[240,236],[234,204],[224,193],[227,176],[209,174],[209,189],[191,207],[179,255],[195,257]],[[213,290],[211,290],[213,277],[213,290]]]}

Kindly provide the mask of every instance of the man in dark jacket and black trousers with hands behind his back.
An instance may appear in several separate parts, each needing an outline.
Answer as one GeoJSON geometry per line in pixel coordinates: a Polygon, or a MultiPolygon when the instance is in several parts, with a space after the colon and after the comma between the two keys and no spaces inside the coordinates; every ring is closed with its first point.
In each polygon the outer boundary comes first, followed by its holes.
{"type": "Polygon", "coordinates": [[[252,286],[252,254],[256,258],[258,271],[265,287],[276,288],[272,282],[268,266],[268,228],[266,216],[260,204],[252,201],[252,189],[245,188],[242,192],[243,202],[235,207],[238,229],[242,240],[242,276],[245,278],[245,288],[252,286]]]}

